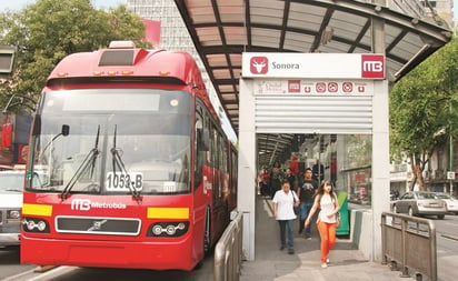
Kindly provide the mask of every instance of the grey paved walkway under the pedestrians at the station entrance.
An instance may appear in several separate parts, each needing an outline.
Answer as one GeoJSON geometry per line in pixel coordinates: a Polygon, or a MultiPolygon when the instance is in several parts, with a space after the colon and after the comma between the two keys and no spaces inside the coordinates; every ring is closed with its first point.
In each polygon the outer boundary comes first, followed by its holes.
{"type": "Polygon", "coordinates": [[[400,271],[391,271],[388,265],[368,261],[361,251],[346,239],[337,240],[329,254],[328,268],[321,269],[319,235],[312,228],[312,239],[298,234],[295,223],[295,254],[280,251],[280,233],[272,217],[271,201],[260,195],[256,202],[255,261],[241,264],[241,281],[409,281],[400,271]]]}

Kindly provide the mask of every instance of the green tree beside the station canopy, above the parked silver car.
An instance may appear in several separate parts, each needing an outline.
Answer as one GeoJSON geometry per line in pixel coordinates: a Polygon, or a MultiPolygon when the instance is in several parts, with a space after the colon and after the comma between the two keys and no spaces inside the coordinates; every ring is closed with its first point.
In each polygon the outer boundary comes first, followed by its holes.
{"type": "Polygon", "coordinates": [[[390,92],[391,157],[406,155],[412,187],[425,190],[422,172],[430,157],[457,131],[458,41],[454,38],[409,72],[390,92]]]}

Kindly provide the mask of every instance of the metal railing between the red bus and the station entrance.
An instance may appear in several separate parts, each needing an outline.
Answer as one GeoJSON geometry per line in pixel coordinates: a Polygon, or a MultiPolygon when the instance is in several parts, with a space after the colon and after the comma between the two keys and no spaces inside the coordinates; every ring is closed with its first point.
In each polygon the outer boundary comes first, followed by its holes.
{"type": "Polygon", "coordinates": [[[240,279],[242,218],[242,213],[237,213],[215,247],[215,281],[238,281],[240,279]]]}

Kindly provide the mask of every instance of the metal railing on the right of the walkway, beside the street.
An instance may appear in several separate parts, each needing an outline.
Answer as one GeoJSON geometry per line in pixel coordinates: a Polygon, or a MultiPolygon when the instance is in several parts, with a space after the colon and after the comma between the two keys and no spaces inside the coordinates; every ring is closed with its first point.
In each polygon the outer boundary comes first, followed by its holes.
{"type": "Polygon", "coordinates": [[[417,280],[427,275],[437,281],[436,227],[431,220],[405,214],[381,214],[382,262],[409,277],[416,272],[417,280]]]}

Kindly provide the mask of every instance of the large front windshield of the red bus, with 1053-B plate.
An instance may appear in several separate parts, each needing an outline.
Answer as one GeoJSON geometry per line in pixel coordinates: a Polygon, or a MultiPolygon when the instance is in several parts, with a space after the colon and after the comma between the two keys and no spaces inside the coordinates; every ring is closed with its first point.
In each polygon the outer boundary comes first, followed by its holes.
{"type": "Polygon", "coordinates": [[[78,89],[42,94],[27,189],[37,192],[190,192],[190,94],[78,89]],[[40,182],[33,174],[46,174],[40,182]]]}

